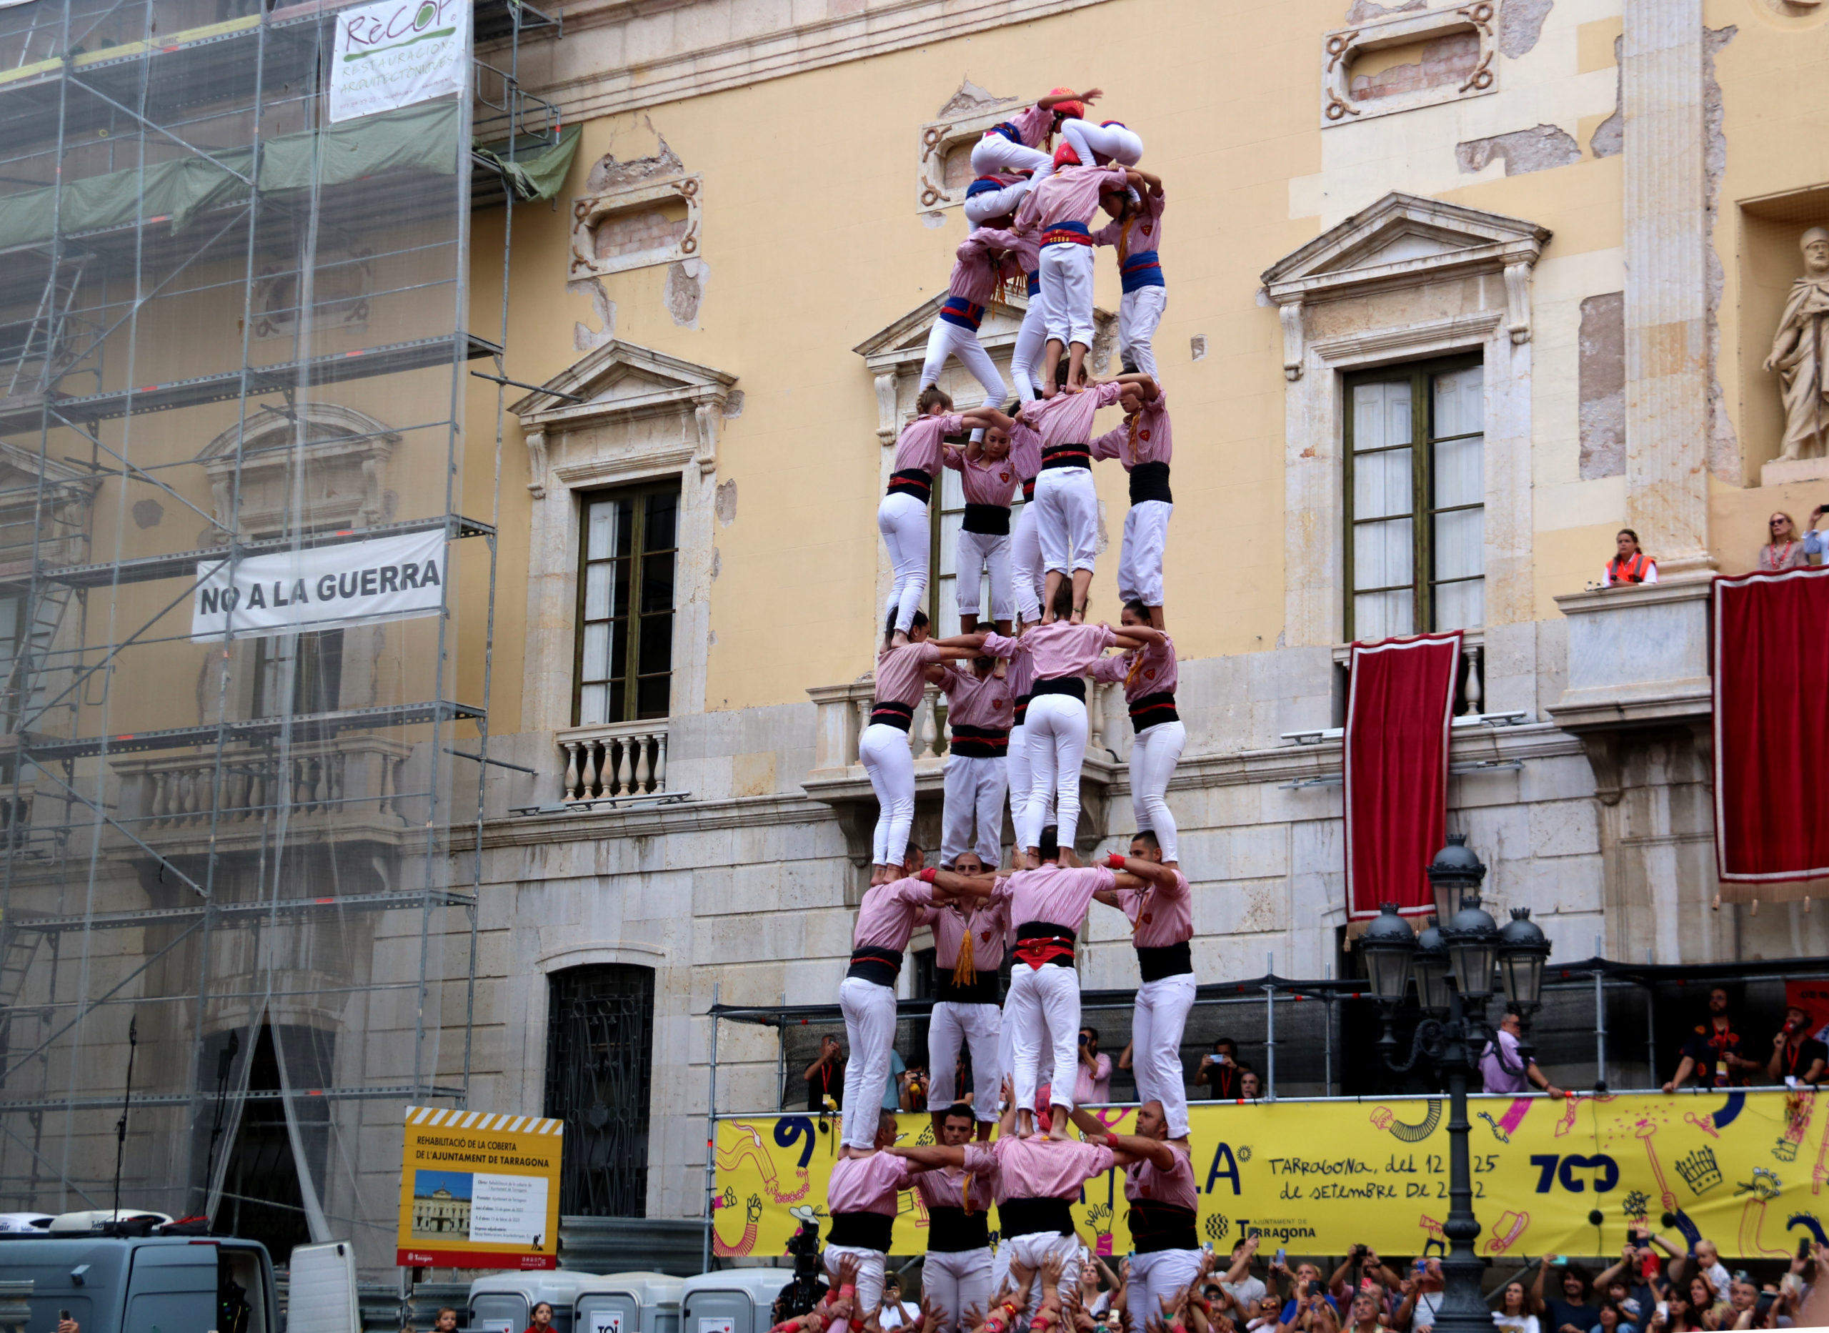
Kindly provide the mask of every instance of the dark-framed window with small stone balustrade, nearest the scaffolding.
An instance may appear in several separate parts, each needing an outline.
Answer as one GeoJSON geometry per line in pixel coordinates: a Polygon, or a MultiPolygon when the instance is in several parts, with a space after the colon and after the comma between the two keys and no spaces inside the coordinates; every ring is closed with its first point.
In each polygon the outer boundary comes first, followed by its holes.
{"type": "Polygon", "coordinates": [[[677,481],[583,501],[576,726],[669,711],[679,501],[677,481]]]}

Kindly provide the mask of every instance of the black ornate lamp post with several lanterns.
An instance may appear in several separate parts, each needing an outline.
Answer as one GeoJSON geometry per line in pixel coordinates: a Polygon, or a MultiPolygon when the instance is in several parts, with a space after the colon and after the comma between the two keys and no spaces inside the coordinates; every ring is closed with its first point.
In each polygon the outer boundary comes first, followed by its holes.
{"type": "Polygon", "coordinates": [[[1372,993],[1385,1011],[1385,1035],[1379,1037],[1385,1064],[1407,1073],[1427,1057],[1449,1079],[1449,1218],[1441,1229],[1449,1238],[1449,1256],[1441,1260],[1436,1333],[1492,1328],[1492,1311],[1480,1295],[1485,1265],[1474,1251],[1480,1220],[1472,1209],[1467,1156],[1467,1079],[1480,1068],[1487,1042],[1498,1037],[1485,1022],[1494,967],[1503,976],[1505,998],[1531,1013],[1538,1006],[1544,960],[1549,956],[1549,940],[1531,922],[1529,909],[1513,909],[1503,931],[1481,911],[1481,880],[1485,867],[1467,850],[1467,837],[1450,834],[1449,845],[1436,852],[1428,867],[1428,883],[1436,892],[1436,916],[1428,929],[1417,936],[1397,916],[1397,907],[1385,903],[1359,940],[1372,993]],[[1392,1015],[1412,976],[1427,1017],[1416,1028],[1408,1057],[1399,1061],[1392,1015]]]}

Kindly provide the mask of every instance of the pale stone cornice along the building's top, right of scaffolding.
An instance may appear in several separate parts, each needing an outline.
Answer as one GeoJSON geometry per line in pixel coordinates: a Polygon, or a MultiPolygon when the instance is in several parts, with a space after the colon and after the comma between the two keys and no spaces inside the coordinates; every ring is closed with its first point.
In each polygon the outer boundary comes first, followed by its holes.
{"type": "Polygon", "coordinates": [[[551,62],[547,77],[525,86],[571,123],[1096,4],[1105,0],[571,0],[565,40],[521,38],[521,71],[551,62]],[[816,16],[796,22],[808,9],[816,16]]]}

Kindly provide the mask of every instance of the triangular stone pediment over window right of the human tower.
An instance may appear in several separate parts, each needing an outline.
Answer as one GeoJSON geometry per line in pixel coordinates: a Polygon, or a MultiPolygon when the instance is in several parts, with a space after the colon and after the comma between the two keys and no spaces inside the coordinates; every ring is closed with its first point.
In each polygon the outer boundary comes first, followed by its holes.
{"type": "Polygon", "coordinates": [[[1282,305],[1529,267],[1547,241],[1547,227],[1522,218],[1392,192],[1266,269],[1264,289],[1282,305]]]}

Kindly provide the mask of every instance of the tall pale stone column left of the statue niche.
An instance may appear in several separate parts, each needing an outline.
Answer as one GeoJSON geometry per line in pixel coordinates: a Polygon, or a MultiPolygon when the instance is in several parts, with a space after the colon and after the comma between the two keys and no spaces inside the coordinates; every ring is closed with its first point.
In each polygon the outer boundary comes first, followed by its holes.
{"type": "Polygon", "coordinates": [[[1626,521],[1659,576],[1708,556],[1703,0],[1626,0],[1626,521]]]}

